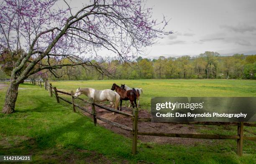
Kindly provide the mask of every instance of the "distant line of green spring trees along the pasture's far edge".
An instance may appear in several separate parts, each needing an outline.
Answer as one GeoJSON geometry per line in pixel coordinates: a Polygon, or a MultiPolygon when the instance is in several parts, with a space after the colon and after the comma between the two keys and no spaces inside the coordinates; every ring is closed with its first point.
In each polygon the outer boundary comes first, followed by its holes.
{"type": "MultiPolygon", "coordinates": [[[[67,61],[68,62],[68,61],[67,61]]],[[[97,61],[91,61],[97,63],[97,61]]],[[[92,66],[67,66],[56,70],[60,77],[51,72],[39,72],[31,77],[49,80],[102,80],[102,79],[169,79],[169,78],[231,78],[256,79],[256,55],[220,56],[216,52],[205,52],[196,57],[160,56],[158,59],[138,57],[135,61],[118,60],[98,63],[109,73],[107,76],[92,66]]],[[[0,70],[0,78],[10,74],[8,67],[0,70]]]]}

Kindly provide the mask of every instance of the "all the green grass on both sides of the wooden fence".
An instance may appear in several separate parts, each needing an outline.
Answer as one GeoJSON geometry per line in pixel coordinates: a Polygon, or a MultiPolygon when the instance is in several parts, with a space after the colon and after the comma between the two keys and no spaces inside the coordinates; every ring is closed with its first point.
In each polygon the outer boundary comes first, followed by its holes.
{"type": "MultiPolygon", "coordinates": [[[[113,82],[143,88],[142,108],[155,96],[256,96],[256,81],[243,80],[136,80],[63,81],[53,86],[66,91],[78,87],[111,88],[113,82]],[[133,84],[133,85],[132,85],[133,84]]],[[[3,106],[6,88],[0,89],[3,106]]],[[[236,126],[198,126],[198,133],[236,134],[236,126]]],[[[256,128],[245,127],[245,134],[256,128]]],[[[244,141],[244,155],[236,155],[236,140],[208,144],[155,144],[139,141],[131,155],[131,139],[115,134],[92,119],[73,113],[67,103],[56,103],[43,88],[21,84],[16,112],[0,114],[0,155],[33,155],[35,163],[256,164],[256,142],[244,141]]]]}

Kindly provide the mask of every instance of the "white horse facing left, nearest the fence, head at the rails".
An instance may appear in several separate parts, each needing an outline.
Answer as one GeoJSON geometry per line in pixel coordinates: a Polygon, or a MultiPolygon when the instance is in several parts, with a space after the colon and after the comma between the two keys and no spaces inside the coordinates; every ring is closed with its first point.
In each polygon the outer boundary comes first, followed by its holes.
{"type": "Polygon", "coordinates": [[[84,94],[88,98],[93,98],[94,101],[102,102],[102,101],[110,101],[110,104],[113,108],[118,110],[118,103],[120,101],[120,95],[111,89],[105,90],[96,90],[93,88],[81,88],[77,89],[76,93],[74,93],[75,97],[84,94]]]}

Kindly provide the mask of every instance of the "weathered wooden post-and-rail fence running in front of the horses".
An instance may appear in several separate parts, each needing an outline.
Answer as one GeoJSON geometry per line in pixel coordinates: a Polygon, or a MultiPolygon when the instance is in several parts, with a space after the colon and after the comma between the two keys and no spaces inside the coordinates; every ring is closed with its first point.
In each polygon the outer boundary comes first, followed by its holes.
{"type": "MultiPolygon", "coordinates": [[[[166,122],[168,124],[197,124],[197,125],[216,125],[216,126],[237,126],[237,135],[222,135],[222,134],[179,134],[179,133],[152,133],[152,132],[146,132],[146,131],[138,131],[138,122],[151,122],[151,118],[138,118],[138,108],[133,109],[133,114],[128,114],[123,111],[118,111],[114,108],[110,108],[108,106],[103,106],[98,103],[95,103],[93,99],[91,98],[90,101],[86,101],[79,97],[74,97],[73,91],[66,92],[66,91],[60,91],[57,90],[56,87],[53,87],[51,83],[47,83],[47,81],[44,81],[45,83],[45,89],[49,88],[50,96],[53,96],[53,93],[56,97],[57,103],[60,103],[59,99],[66,101],[67,103],[72,104],[73,111],[76,112],[76,107],[87,112],[88,114],[92,115],[94,124],[96,126],[97,119],[111,124],[113,126],[117,126],[118,128],[124,129],[126,131],[131,131],[132,134],[132,153],[136,154],[137,152],[137,139],[138,135],[147,135],[147,136],[165,136],[165,137],[180,137],[180,138],[194,138],[194,139],[236,139],[237,140],[237,154],[241,156],[243,154],[243,140],[254,140],[256,141],[256,137],[253,136],[244,136],[243,135],[243,127],[244,126],[252,126],[256,127],[256,124],[254,123],[248,123],[248,122],[166,122]],[[59,96],[58,93],[66,94],[71,96],[72,101],[69,101],[61,96],[59,96]],[[75,103],[75,99],[79,99],[84,103],[89,103],[92,107],[92,111],[89,111],[88,109],[79,106],[77,103],[75,103]],[[104,119],[100,116],[97,116],[97,111],[95,110],[95,106],[105,109],[107,111],[114,112],[116,114],[121,114],[123,116],[130,117],[133,121],[133,127],[128,127],[122,124],[119,124],[114,121],[110,121],[108,119],[104,119]]],[[[41,86],[41,84],[39,85],[41,86]]]]}

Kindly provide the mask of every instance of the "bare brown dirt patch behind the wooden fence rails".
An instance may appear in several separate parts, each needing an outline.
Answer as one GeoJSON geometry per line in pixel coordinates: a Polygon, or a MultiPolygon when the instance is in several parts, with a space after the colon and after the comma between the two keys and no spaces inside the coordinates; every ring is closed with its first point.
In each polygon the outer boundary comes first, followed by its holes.
{"type": "MultiPolygon", "coordinates": [[[[89,110],[91,110],[90,106],[86,106],[89,110]]],[[[102,108],[96,107],[97,116],[102,118],[115,121],[119,124],[126,125],[128,127],[132,127],[132,120],[129,117],[115,114],[112,112],[106,111],[102,108]]],[[[123,107],[122,111],[131,114],[132,108],[123,107]]],[[[82,112],[82,114],[86,116],[90,116],[86,112],[82,112]]],[[[138,116],[140,118],[150,118],[151,114],[143,109],[140,109],[138,112],[138,116]]],[[[126,137],[131,137],[131,132],[120,129],[116,126],[112,126],[103,121],[97,120],[97,123],[101,126],[110,129],[111,131],[121,134],[126,137]]],[[[196,127],[194,125],[187,124],[166,124],[166,123],[156,123],[156,122],[141,122],[138,123],[138,130],[142,132],[158,132],[158,133],[183,133],[183,134],[197,134],[196,127]]],[[[187,139],[187,138],[175,138],[175,137],[160,137],[160,136],[144,136],[138,135],[138,139],[142,142],[154,142],[159,144],[185,144],[185,145],[196,145],[197,143],[210,143],[210,140],[205,139],[187,139]]]]}

